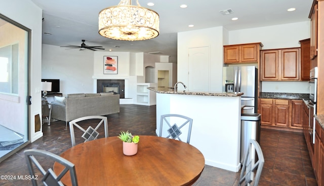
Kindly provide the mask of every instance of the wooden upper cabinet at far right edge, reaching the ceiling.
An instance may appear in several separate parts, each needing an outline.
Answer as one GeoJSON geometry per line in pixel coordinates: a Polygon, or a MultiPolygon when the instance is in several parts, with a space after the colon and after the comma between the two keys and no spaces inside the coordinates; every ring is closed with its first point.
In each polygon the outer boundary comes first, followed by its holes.
{"type": "Polygon", "coordinates": [[[310,59],[317,56],[317,4],[314,1],[312,9],[310,10],[310,59]]]}

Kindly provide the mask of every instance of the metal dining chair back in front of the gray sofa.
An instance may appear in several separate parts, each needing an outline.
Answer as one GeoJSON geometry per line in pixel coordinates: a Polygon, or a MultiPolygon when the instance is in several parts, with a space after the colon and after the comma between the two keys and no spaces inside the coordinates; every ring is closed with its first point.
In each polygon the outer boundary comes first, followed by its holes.
{"type": "Polygon", "coordinates": [[[70,124],[70,134],[71,134],[71,142],[72,146],[75,145],[75,136],[74,136],[74,126],[77,127],[78,129],[82,130],[84,133],[82,134],[83,139],[85,139],[84,142],[91,141],[94,139],[97,139],[99,136],[98,129],[101,126],[101,124],[104,123],[104,130],[105,130],[105,137],[108,137],[108,122],[107,122],[107,117],[104,116],[86,116],[82,118],[78,118],[75,120],[72,120],[69,122],[70,124]],[[91,120],[91,122],[97,122],[97,126],[93,128],[92,126],[89,126],[87,129],[84,129],[77,123],[83,122],[85,120],[91,120]],[[98,122],[99,121],[99,122],[98,122]]]}

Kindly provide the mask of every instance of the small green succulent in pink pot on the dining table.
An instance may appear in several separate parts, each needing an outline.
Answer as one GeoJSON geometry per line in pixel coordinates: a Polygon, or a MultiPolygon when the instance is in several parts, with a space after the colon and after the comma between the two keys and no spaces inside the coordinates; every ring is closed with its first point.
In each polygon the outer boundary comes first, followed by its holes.
{"type": "Polygon", "coordinates": [[[123,153],[126,156],[133,156],[137,154],[138,142],[140,137],[138,135],[132,135],[129,131],[121,131],[117,136],[123,141],[123,153]]]}

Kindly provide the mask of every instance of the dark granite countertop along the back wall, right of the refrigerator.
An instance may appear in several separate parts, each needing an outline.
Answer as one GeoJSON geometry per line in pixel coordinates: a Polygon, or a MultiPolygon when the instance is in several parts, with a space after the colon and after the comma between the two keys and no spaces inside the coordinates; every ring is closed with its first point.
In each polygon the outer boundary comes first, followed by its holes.
{"type": "Polygon", "coordinates": [[[309,94],[299,93],[276,93],[276,92],[260,92],[259,98],[272,99],[309,99],[309,94]]]}

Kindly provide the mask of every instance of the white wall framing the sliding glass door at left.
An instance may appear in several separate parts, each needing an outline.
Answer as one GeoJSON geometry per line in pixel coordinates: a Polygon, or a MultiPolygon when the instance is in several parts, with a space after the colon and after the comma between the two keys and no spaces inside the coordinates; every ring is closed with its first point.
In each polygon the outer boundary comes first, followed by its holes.
{"type": "MultiPolygon", "coordinates": [[[[32,104],[29,106],[29,139],[35,141],[43,136],[41,132],[34,132],[34,115],[41,113],[41,66],[42,66],[42,10],[35,6],[31,1],[3,0],[1,1],[0,12],[4,16],[31,29],[31,46],[30,46],[30,96],[32,104]]],[[[25,91],[25,90],[19,90],[25,91]]],[[[25,98],[20,101],[24,102],[25,98]]],[[[1,103],[0,103],[1,104],[1,103]]]]}

